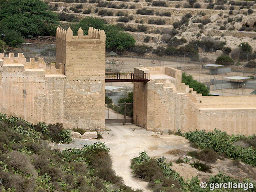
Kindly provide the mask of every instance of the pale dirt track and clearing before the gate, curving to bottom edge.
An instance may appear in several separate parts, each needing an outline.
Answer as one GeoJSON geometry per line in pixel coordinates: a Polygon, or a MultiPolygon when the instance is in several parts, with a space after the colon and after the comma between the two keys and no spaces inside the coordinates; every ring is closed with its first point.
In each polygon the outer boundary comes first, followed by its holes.
{"type": "MultiPolygon", "coordinates": [[[[133,177],[130,168],[130,160],[138,156],[141,151],[148,151],[148,155],[153,157],[165,156],[172,159],[167,151],[172,149],[188,149],[188,141],[180,136],[175,135],[160,135],[154,132],[146,131],[132,124],[108,124],[106,125],[110,131],[101,132],[103,139],[100,140],[83,140],[75,139],[75,142],[70,144],[63,144],[60,146],[64,148],[80,148],[85,144],[92,144],[94,142],[105,142],[110,148],[110,155],[112,157],[112,167],[116,174],[124,179],[124,183],[134,189],[140,188],[144,192],[149,192],[147,182],[133,177]],[[172,144],[171,144],[172,143],[172,144]]],[[[171,160],[170,159],[170,160],[171,160]]]]}

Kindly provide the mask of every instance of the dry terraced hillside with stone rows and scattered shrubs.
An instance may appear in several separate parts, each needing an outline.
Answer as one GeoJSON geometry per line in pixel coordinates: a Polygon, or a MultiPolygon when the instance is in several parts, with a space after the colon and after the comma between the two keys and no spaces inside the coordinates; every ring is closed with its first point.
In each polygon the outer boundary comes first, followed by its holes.
{"type": "Polygon", "coordinates": [[[137,44],[149,42],[153,48],[166,47],[173,37],[186,42],[215,37],[231,49],[242,42],[248,42],[253,50],[256,47],[254,1],[63,0],[49,2],[49,6],[63,21],[102,18],[132,33],[137,44]]]}

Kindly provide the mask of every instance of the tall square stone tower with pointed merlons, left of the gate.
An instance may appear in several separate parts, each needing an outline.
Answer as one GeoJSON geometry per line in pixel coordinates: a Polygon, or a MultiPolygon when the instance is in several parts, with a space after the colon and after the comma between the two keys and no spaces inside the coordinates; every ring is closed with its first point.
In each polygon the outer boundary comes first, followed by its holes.
{"type": "Polygon", "coordinates": [[[105,124],[104,30],[56,30],[56,65],[64,64],[64,125],[103,129],[105,124]]]}

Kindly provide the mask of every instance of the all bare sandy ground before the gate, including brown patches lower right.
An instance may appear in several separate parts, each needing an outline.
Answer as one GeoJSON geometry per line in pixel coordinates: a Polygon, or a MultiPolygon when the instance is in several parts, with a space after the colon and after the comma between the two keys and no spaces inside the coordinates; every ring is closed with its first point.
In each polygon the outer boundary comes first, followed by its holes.
{"type": "MultiPolygon", "coordinates": [[[[105,142],[110,148],[112,158],[112,167],[116,174],[123,177],[124,183],[134,189],[140,188],[144,192],[149,192],[147,182],[142,181],[132,174],[130,168],[130,160],[138,156],[141,151],[146,150],[151,157],[164,156],[168,161],[172,161],[172,169],[179,172],[185,179],[191,179],[192,176],[199,175],[201,181],[207,181],[211,175],[216,175],[222,171],[226,175],[243,180],[251,178],[256,180],[256,168],[241,163],[239,166],[232,165],[231,159],[218,159],[216,163],[211,164],[212,173],[200,172],[189,164],[176,164],[175,161],[189,151],[196,150],[190,147],[187,139],[181,136],[163,135],[146,131],[134,124],[107,124],[106,130],[100,134],[103,139],[100,140],[85,140],[74,139],[70,144],[62,144],[60,149],[64,148],[82,148],[84,145],[93,144],[98,141],[105,142]]],[[[192,160],[191,160],[192,161],[192,160]]]]}

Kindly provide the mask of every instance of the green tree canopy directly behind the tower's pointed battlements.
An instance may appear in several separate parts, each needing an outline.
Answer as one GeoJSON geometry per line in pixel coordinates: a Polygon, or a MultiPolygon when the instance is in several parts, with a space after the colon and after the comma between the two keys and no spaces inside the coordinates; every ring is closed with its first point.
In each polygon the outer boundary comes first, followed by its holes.
{"type": "Polygon", "coordinates": [[[104,30],[106,33],[106,48],[108,49],[120,48],[123,50],[127,47],[132,47],[135,44],[132,35],[123,32],[121,28],[118,28],[115,25],[105,24],[102,19],[86,17],[80,20],[79,23],[73,24],[71,29],[75,35],[79,27],[84,30],[84,35],[88,35],[89,27],[104,30]]]}

